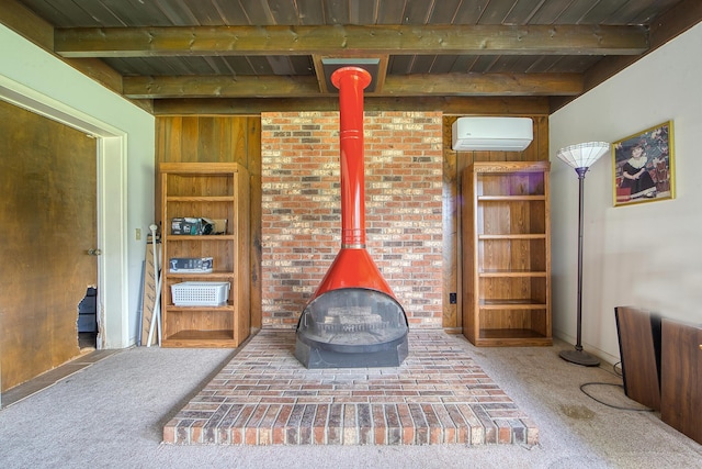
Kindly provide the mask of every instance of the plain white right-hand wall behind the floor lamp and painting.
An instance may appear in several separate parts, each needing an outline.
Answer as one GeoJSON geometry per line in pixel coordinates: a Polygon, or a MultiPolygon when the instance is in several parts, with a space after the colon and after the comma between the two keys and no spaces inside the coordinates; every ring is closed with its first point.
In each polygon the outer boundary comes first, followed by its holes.
{"type": "Polygon", "coordinates": [[[619,361],[614,308],[637,305],[702,323],[702,24],[550,119],[554,334],[575,343],[578,182],[564,146],[615,142],[673,121],[673,200],[614,208],[612,159],[585,179],[582,344],[619,361]]]}

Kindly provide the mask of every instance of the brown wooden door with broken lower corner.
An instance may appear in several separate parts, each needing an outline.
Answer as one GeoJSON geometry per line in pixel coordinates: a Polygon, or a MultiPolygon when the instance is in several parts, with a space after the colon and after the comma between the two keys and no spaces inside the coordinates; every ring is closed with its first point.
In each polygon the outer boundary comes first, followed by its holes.
{"type": "Polygon", "coordinates": [[[79,354],[78,305],[98,284],[97,141],[0,102],[2,390],[79,354]]]}

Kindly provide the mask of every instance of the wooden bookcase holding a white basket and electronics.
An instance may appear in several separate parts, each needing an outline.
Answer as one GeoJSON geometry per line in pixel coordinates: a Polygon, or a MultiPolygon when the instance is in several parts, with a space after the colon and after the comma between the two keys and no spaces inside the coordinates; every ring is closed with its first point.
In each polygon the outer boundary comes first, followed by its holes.
{"type": "Polygon", "coordinates": [[[163,347],[237,347],[250,333],[249,175],[236,163],[162,163],[163,347]],[[227,220],[225,234],[172,235],[173,217],[227,220]],[[212,257],[211,273],[171,272],[174,257],[212,257]],[[176,306],[171,286],[229,282],[222,306],[176,306]]]}

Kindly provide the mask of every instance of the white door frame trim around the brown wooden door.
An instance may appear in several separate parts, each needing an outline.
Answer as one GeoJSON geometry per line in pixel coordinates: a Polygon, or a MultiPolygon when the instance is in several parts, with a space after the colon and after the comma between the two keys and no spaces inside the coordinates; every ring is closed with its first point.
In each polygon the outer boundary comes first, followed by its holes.
{"type": "Polygon", "coordinates": [[[0,99],[98,139],[98,348],[129,346],[127,134],[0,75],[0,99]],[[109,213],[110,216],[105,216],[109,213]]]}

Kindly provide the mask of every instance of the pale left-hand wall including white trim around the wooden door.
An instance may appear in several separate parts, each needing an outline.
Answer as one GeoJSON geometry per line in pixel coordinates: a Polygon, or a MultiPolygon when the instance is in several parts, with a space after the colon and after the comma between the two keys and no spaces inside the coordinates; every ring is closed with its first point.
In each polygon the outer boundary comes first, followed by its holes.
{"type": "Polygon", "coordinates": [[[0,25],[0,94],[104,136],[99,185],[105,220],[101,273],[106,348],[135,343],[146,234],[154,222],[155,119],[53,55],[0,25]],[[136,241],[135,231],[143,237],[136,241]]]}

